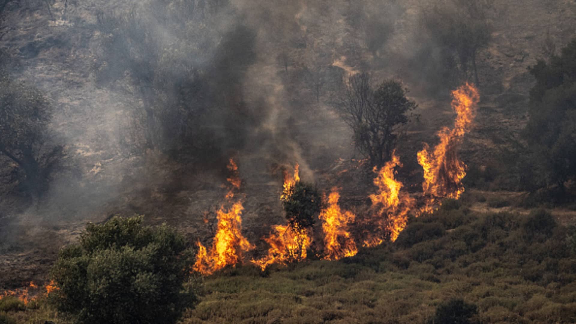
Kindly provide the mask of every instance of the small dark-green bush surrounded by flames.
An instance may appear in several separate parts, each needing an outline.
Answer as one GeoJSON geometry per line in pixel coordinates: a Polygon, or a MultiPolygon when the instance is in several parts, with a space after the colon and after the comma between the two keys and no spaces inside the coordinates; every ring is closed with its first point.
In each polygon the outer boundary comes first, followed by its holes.
{"type": "Polygon", "coordinates": [[[309,228],[314,225],[316,216],[322,210],[322,196],[310,183],[297,182],[292,194],[283,201],[286,219],[296,228],[309,228]]]}

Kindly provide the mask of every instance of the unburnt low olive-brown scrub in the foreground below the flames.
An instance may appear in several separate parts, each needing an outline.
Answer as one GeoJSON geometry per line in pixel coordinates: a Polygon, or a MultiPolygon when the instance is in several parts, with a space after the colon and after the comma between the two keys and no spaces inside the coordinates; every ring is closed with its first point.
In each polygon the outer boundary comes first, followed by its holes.
{"type": "MultiPolygon", "coordinates": [[[[460,316],[471,323],[571,323],[576,321],[575,235],[574,226],[559,225],[543,210],[482,214],[450,201],[433,215],[412,220],[395,243],[363,249],[352,258],[265,272],[244,265],[206,277],[202,286],[194,286],[200,303],[185,311],[181,322],[444,323],[460,316]]],[[[65,253],[60,258],[56,271],[66,262],[65,253]]],[[[129,263],[117,269],[134,270],[129,263]]],[[[112,301],[98,291],[86,297],[112,301]]],[[[149,307],[166,307],[159,304],[164,299],[154,302],[161,292],[147,294],[149,307]]],[[[128,303],[137,300],[128,287],[113,293],[128,303]]],[[[99,309],[112,312],[118,303],[99,309]]],[[[18,321],[64,323],[66,317],[49,305],[40,300],[39,309],[22,312],[21,302],[2,299],[0,309],[18,321]]]]}

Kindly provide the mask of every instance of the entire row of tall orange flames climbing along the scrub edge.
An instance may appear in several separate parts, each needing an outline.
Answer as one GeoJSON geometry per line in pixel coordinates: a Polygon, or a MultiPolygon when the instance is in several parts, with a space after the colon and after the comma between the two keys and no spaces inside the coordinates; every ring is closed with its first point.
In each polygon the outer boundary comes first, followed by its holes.
{"type": "MultiPolygon", "coordinates": [[[[425,144],[418,152],[418,163],[424,173],[422,197],[412,197],[404,184],[396,179],[396,168],[401,168],[402,164],[400,157],[393,152],[391,159],[382,168],[373,169],[376,174],[373,183],[377,191],[369,196],[372,201],[370,217],[366,218],[366,224],[363,225],[370,228],[370,231],[364,231],[361,235],[363,237],[353,236],[357,217],[354,213],[340,208],[339,190],[332,189],[325,199],[325,207],[319,215],[323,232],[323,240],[318,243],[323,245],[321,258],[338,260],[353,257],[358,253],[357,244],[374,247],[388,239],[394,242],[406,228],[410,215],[418,217],[432,213],[442,204],[442,199],[460,197],[464,192],[461,180],[466,175],[466,165],[458,159],[457,149],[464,135],[471,129],[480,97],[478,90],[468,83],[453,91],[452,96],[451,106],[457,114],[454,127],[444,127],[438,132],[440,142],[433,150],[425,144]]],[[[228,169],[233,174],[228,179],[232,188],[226,195],[230,203],[234,197],[233,190],[240,189],[241,181],[238,167],[233,160],[230,160],[228,169]]],[[[294,193],[296,184],[300,182],[299,165],[295,165],[293,173],[285,171],[283,178],[279,198],[287,201],[294,193]]],[[[194,270],[211,274],[226,266],[235,266],[242,262],[245,253],[254,248],[241,233],[242,210],[240,201],[232,203],[232,208],[228,210],[222,206],[218,211],[218,231],[210,250],[198,242],[199,251],[194,270]]],[[[308,257],[310,248],[316,244],[312,228],[305,228],[297,223],[273,225],[264,242],[269,246],[266,254],[259,259],[251,259],[251,263],[262,270],[271,265],[303,261],[308,257]]]]}

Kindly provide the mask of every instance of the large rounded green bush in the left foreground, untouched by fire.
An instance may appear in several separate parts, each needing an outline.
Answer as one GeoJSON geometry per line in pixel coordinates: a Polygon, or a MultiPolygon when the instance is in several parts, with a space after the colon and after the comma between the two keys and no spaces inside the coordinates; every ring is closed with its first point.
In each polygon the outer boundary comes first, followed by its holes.
{"type": "Polygon", "coordinates": [[[51,301],[82,323],[175,323],[194,306],[183,287],[191,255],[183,236],[166,225],[145,227],[142,217],[89,224],[78,244],[60,251],[51,301]]]}

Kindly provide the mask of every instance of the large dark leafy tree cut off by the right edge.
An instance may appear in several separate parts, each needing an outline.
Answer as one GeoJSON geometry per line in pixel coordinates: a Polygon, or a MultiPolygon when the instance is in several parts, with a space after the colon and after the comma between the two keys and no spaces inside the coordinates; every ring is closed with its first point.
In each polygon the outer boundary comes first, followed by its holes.
{"type": "Polygon", "coordinates": [[[524,170],[528,189],[565,183],[576,177],[576,39],[548,62],[530,67],[536,85],[530,91],[524,131],[529,155],[524,170]]]}

